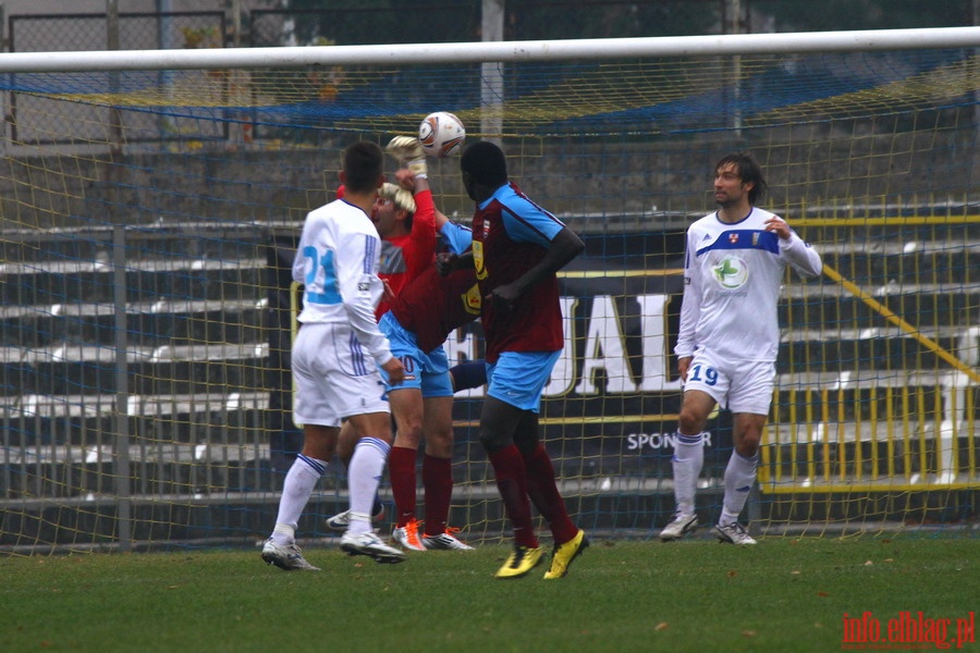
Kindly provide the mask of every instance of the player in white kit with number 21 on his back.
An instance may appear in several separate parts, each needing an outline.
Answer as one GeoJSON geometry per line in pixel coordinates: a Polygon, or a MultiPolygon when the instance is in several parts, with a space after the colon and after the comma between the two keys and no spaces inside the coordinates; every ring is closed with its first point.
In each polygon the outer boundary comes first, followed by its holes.
{"type": "Polygon", "coordinates": [[[310,211],[303,224],[293,280],[304,285],[299,332],[293,343],[296,385],[293,420],[303,424],[303,452],[283,482],[275,527],[262,546],[262,559],[286,571],[317,570],[303,557],[295,531],[317,481],[333,457],[341,422],[357,436],[347,470],[350,525],[341,549],[379,563],[400,563],[405,554],[373,533],[371,504],[391,451],[391,410],[379,368],[393,383],[404,368],[379,331],[375,307],[383,283],[378,278],[381,238],[370,220],[384,182],[384,156],[372,143],[344,150],[343,199],[310,211]]]}

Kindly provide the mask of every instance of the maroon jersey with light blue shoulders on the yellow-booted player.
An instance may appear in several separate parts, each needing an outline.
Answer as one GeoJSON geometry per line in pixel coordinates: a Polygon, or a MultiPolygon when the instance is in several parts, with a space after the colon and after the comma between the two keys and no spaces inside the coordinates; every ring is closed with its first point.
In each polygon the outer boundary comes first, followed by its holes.
{"type": "MultiPolygon", "coordinates": [[[[473,252],[480,296],[506,285],[534,268],[551,239],[564,229],[554,215],[534,204],[514,184],[497,189],[473,218],[473,252]]],[[[502,352],[556,352],[564,346],[558,278],[528,288],[501,310],[483,303],[487,361],[502,352]]]]}

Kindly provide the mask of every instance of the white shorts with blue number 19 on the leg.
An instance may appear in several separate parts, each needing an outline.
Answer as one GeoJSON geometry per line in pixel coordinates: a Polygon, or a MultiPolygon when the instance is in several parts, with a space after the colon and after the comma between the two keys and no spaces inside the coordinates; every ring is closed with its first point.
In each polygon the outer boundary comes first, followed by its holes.
{"type": "Polygon", "coordinates": [[[775,364],[772,361],[722,362],[701,350],[694,355],[687,368],[684,391],[706,392],[719,406],[732,412],[769,415],[774,382],[775,364]]]}

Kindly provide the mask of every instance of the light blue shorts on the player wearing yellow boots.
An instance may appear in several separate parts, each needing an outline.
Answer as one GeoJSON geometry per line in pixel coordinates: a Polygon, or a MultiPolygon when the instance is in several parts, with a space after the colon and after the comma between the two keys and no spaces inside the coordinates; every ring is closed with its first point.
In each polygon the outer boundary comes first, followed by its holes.
{"type": "Polygon", "coordinates": [[[487,394],[522,410],[541,410],[541,392],[562,352],[504,352],[487,366],[487,394]]]}

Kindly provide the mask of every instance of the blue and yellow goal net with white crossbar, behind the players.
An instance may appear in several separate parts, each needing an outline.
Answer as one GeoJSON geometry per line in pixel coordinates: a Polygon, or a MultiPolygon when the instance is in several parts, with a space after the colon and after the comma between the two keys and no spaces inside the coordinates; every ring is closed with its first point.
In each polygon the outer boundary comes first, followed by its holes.
{"type": "MultiPolygon", "coordinates": [[[[512,178],[587,244],[561,273],[566,347],[541,409],[579,526],[646,538],[670,519],[684,232],[713,210],[714,162],[748,150],[761,205],[826,269],[785,280],[744,517],[763,535],[971,532],[978,45],[955,28],[4,56],[0,549],[267,535],[302,445],[302,221],[334,197],[346,145],[436,110],[499,140],[512,178]]],[[[468,223],[458,159],[429,165],[437,206],[468,223]]],[[[480,359],[479,325],[446,348],[480,359]]],[[[473,543],[509,535],[482,396],[454,407],[451,525],[473,543]]],[[[709,431],[707,522],[731,415],[709,431]]],[[[299,537],[333,541],[323,517],[345,508],[332,461],[299,537]]]]}

